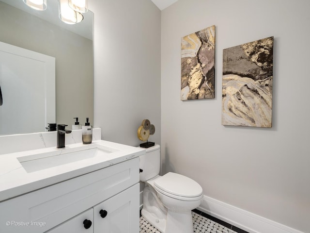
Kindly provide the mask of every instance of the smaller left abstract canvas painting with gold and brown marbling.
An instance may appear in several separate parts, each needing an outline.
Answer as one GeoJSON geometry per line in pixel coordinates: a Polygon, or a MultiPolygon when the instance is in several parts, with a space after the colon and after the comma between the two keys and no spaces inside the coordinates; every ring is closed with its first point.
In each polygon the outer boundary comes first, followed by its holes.
{"type": "Polygon", "coordinates": [[[181,100],[214,98],[215,26],[181,41],[181,100]]]}

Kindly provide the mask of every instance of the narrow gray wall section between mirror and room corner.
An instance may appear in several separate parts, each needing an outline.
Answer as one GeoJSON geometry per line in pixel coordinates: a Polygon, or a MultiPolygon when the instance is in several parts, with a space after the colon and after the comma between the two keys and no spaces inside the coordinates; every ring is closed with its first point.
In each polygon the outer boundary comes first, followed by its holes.
{"type": "Polygon", "coordinates": [[[150,0],[91,0],[94,126],[102,139],[138,146],[143,119],[160,143],[160,11],[150,0]]]}

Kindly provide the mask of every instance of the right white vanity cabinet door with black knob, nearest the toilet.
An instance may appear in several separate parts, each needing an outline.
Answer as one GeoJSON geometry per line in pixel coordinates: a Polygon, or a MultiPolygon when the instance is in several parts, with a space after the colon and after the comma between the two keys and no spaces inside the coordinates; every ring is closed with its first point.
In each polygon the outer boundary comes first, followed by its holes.
{"type": "Polygon", "coordinates": [[[139,232],[139,183],[93,207],[94,233],[139,232]]]}

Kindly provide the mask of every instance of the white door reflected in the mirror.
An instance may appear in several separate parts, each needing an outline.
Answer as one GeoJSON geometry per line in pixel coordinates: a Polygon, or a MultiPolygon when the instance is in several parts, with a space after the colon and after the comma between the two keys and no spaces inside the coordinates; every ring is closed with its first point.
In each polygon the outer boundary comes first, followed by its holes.
{"type": "Polygon", "coordinates": [[[39,132],[56,122],[55,58],[0,42],[0,64],[1,134],[39,132]]]}

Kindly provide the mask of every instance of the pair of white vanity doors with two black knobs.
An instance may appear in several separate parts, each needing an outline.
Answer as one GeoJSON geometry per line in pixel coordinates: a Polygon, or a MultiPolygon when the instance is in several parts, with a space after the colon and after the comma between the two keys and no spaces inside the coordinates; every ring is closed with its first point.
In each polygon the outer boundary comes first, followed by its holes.
{"type": "Polygon", "coordinates": [[[140,185],[135,184],[47,233],[137,233],[139,188],[140,185]]]}

